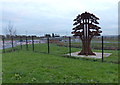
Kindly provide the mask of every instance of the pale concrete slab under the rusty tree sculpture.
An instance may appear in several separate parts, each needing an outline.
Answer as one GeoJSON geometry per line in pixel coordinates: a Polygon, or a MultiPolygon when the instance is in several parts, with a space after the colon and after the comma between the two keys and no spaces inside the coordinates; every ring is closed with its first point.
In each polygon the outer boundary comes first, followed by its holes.
{"type": "MultiPolygon", "coordinates": [[[[96,55],[78,55],[79,52],[71,53],[72,57],[102,58],[102,53],[94,52],[96,55]]],[[[112,53],[104,53],[103,57],[109,57],[112,53]]],[[[70,55],[70,54],[67,54],[70,55]]]]}

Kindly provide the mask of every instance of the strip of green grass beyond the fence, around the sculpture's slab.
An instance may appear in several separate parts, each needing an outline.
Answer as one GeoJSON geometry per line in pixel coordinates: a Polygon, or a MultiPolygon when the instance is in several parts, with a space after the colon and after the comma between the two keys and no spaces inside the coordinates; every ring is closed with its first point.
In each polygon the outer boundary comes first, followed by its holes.
{"type": "MultiPolygon", "coordinates": [[[[80,48],[71,48],[72,52],[77,52],[77,51],[80,51],[80,50],[81,50],[80,48]]],[[[32,45],[29,45],[29,51],[32,51],[32,45]]],[[[36,44],[35,45],[35,51],[39,52],[39,53],[48,53],[47,44],[36,44]]],[[[93,52],[102,52],[102,50],[93,49],[93,52]]],[[[119,62],[118,61],[118,51],[117,50],[104,50],[104,52],[105,53],[112,53],[112,55],[110,55],[110,57],[104,58],[104,61],[114,62],[114,63],[119,62]]],[[[67,54],[67,53],[69,53],[68,45],[67,45],[67,47],[64,47],[64,46],[58,46],[56,44],[50,44],[50,54],[61,56],[61,55],[67,54]]],[[[93,60],[93,59],[91,59],[91,60],[93,60]]],[[[97,61],[101,61],[101,60],[98,59],[97,61]]]]}

